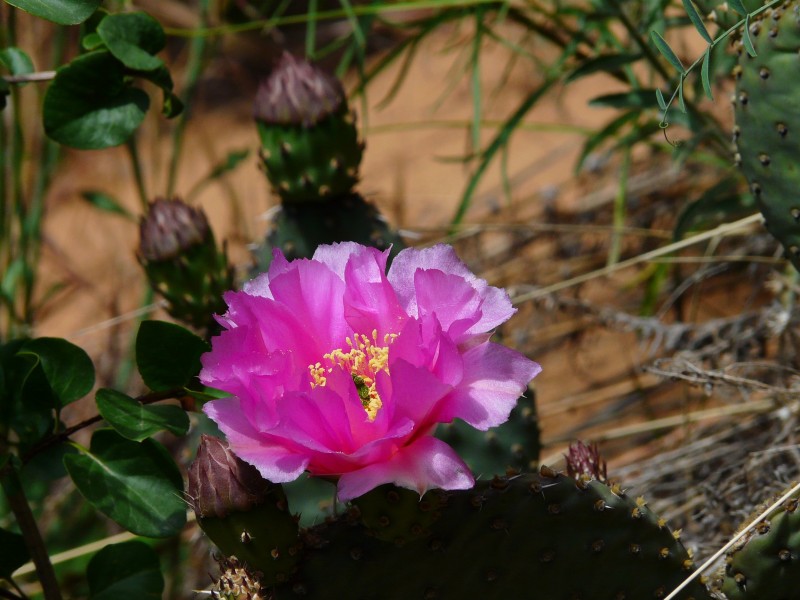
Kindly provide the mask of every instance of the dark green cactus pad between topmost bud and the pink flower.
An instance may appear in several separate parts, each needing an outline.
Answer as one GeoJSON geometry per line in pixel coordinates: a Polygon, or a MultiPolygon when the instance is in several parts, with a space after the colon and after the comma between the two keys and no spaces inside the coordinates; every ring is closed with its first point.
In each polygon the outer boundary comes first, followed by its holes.
{"type": "Polygon", "coordinates": [[[257,268],[264,271],[279,248],[287,259],[311,258],[320,244],[358,242],[379,250],[402,250],[400,236],[378,210],[358,194],[331,199],[324,204],[284,204],[272,219],[264,244],[254,250],[257,268]]]}

